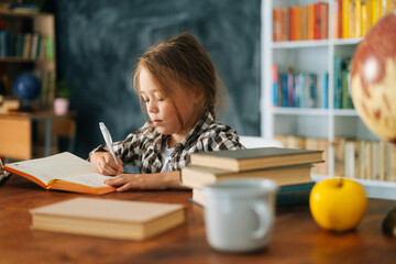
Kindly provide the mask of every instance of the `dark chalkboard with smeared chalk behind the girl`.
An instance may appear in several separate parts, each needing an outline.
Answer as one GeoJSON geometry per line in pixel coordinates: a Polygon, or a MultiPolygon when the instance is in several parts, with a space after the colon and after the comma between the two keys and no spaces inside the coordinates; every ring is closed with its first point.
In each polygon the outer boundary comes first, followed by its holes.
{"type": "Polygon", "coordinates": [[[208,51],[229,90],[220,121],[239,134],[260,134],[260,0],[56,1],[57,77],[77,89],[76,154],[143,125],[131,76],[138,58],[161,41],[191,32],[208,51]]]}

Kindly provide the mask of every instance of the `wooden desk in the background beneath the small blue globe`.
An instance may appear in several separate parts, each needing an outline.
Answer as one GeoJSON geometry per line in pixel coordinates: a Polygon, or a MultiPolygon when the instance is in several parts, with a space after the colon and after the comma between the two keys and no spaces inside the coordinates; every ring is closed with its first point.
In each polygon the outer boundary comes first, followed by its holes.
{"type": "Polygon", "coordinates": [[[0,113],[0,156],[30,160],[32,158],[32,123],[44,122],[44,155],[51,155],[54,121],[72,120],[75,112],[55,114],[53,111],[0,113]]]}

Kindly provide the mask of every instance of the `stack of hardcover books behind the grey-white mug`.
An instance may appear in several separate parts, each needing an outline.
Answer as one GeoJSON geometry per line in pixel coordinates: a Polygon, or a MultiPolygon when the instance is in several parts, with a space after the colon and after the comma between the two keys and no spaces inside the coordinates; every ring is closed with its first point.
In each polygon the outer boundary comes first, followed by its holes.
{"type": "MultiPolygon", "coordinates": [[[[258,147],[237,151],[199,152],[182,168],[180,184],[193,188],[193,201],[205,206],[201,188],[228,178],[268,178],[278,185],[277,205],[292,205],[294,195],[305,194],[314,183],[311,167],[323,162],[321,150],[258,147]],[[282,197],[279,195],[284,194],[282,197]],[[279,199],[282,198],[282,199],[279,199]]],[[[299,200],[299,202],[301,199],[299,200]]],[[[296,201],[297,202],[297,201],[296,201]]]]}

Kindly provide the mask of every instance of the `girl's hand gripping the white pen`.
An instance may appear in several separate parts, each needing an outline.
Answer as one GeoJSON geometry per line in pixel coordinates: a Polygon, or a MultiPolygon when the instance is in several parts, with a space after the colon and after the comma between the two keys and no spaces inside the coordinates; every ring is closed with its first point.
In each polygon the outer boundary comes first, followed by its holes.
{"type": "Polygon", "coordinates": [[[119,165],[109,152],[96,152],[90,155],[89,160],[97,166],[98,173],[107,176],[114,176],[123,173],[122,161],[116,156],[119,165]]]}

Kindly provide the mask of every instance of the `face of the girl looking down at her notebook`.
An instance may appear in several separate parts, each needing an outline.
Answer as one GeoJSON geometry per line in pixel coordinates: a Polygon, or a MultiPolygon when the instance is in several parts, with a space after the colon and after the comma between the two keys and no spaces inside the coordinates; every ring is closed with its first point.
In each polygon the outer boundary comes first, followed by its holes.
{"type": "MultiPolygon", "coordinates": [[[[140,73],[139,80],[141,95],[145,102],[150,119],[162,134],[172,135],[172,143],[169,143],[169,145],[173,146],[174,143],[179,142],[188,134],[191,125],[182,128],[170,99],[162,94],[162,89],[152,81],[144,68],[142,68],[140,73]]],[[[196,107],[201,100],[201,96],[180,88],[174,88],[173,92],[175,95],[174,103],[182,114],[183,122],[185,124],[191,123],[190,120],[196,117],[196,107]]]]}

